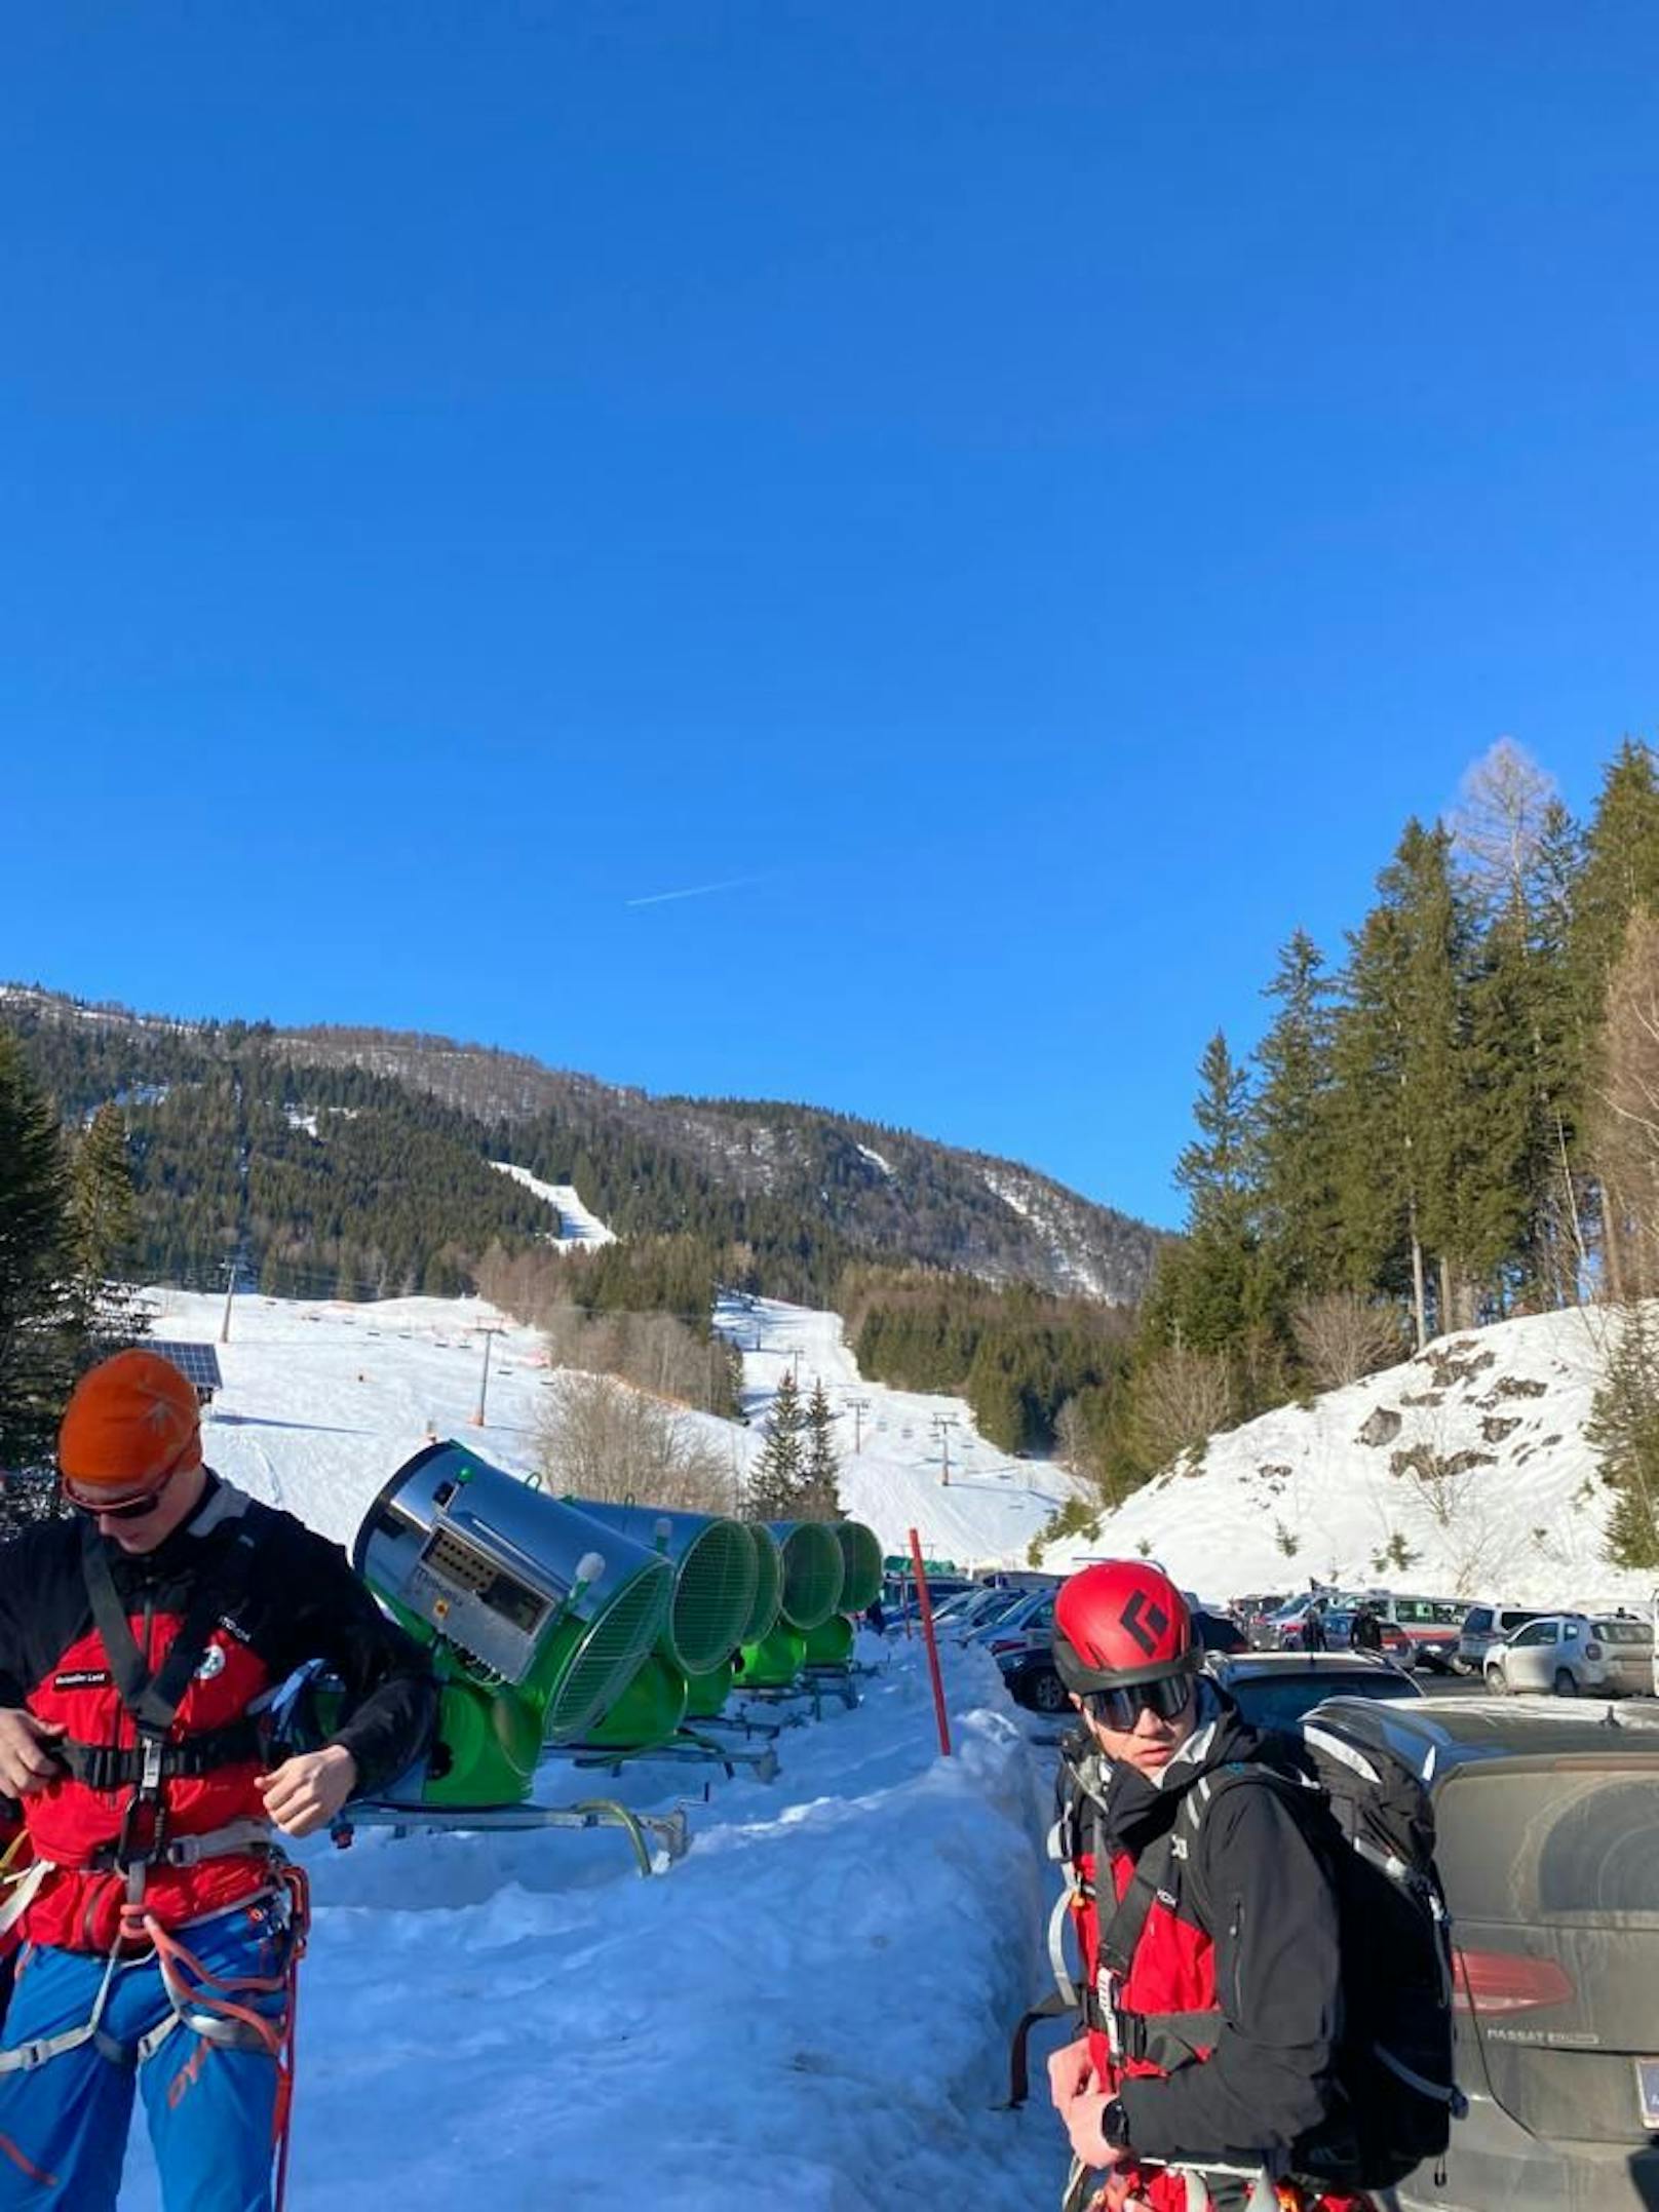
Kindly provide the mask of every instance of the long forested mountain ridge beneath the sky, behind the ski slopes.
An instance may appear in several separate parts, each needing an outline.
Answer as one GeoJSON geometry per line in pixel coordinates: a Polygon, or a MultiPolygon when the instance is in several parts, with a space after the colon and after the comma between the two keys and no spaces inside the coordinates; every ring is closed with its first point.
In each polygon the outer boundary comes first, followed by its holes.
{"type": "Polygon", "coordinates": [[[686,1239],[699,1279],[816,1303],[860,1254],[1128,1301],[1157,1243],[1026,1168],[816,1108],[653,1099],[431,1037],[155,1020],[24,987],[0,991],[0,1020],[69,1126],[122,1108],[133,1265],[175,1283],[234,1261],[274,1294],[476,1287],[557,1230],[498,1159],[573,1183],[624,1237],[686,1239]]]}

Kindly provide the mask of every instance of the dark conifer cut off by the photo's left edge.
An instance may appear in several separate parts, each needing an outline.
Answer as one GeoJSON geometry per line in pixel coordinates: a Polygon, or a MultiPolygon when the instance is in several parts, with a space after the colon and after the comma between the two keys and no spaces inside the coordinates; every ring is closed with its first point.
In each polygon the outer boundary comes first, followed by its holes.
{"type": "Polygon", "coordinates": [[[51,1458],[73,1352],[66,1201],[58,1117],[0,1031],[0,1467],[51,1458]]]}

